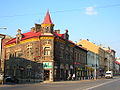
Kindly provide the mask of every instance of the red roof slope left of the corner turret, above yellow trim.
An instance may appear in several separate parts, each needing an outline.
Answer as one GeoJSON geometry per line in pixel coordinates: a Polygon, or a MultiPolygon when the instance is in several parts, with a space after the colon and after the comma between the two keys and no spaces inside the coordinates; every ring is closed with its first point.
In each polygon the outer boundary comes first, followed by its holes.
{"type": "MultiPolygon", "coordinates": [[[[37,36],[40,36],[40,35],[41,35],[40,32],[37,32],[37,33],[34,33],[34,32],[23,33],[22,34],[23,37],[22,37],[21,40],[25,40],[25,39],[32,38],[32,37],[37,37],[37,36]]],[[[15,43],[15,42],[16,42],[16,38],[13,38],[10,41],[8,41],[6,44],[11,44],[11,43],[15,43]]]]}

